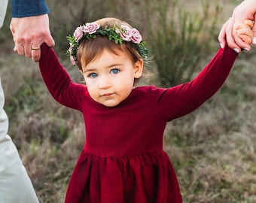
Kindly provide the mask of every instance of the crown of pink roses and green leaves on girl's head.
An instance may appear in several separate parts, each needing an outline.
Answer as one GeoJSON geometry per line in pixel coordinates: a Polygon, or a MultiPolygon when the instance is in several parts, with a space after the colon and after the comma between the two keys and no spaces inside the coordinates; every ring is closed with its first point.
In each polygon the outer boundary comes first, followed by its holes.
{"type": "Polygon", "coordinates": [[[73,65],[78,65],[76,56],[81,41],[96,38],[97,35],[106,36],[110,41],[114,40],[116,44],[122,44],[123,41],[131,42],[143,59],[148,57],[148,50],[145,47],[146,42],[142,40],[142,35],[139,34],[137,29],[131,29],[126,25],[101,26],[97,23],[86,23],[83,26],[78,26],[72,36],[67,36],[70,47],[66,55],[70,56],[73,65]]]}

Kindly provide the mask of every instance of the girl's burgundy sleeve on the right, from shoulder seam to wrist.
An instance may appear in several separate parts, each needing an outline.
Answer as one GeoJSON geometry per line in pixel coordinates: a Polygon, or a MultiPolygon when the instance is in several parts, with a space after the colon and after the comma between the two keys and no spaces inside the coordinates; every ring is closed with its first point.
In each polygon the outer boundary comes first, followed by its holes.
{"type": "Polygon", "coordinates": [[[218,50],[194,80],[169,89],[156,89],[154,95],[166,120],[189,114],[211,98],[227,79],[236,56],[237,53],[226,46],[218,50]]]}

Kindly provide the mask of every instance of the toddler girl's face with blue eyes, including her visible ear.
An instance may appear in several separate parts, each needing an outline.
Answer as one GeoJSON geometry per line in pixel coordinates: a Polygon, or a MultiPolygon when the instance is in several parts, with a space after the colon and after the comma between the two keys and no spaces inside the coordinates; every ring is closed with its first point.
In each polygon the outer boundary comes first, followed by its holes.
{"type": "Polygon", "coordinates": [[[142,60],[133,63],[123,51],[116,55],[103,50],[100,56],[82,67],[81,74],[93,100],[106,107],[114,107],[130,95],[134,79],[142,76],[142,69],[142,60]]]}

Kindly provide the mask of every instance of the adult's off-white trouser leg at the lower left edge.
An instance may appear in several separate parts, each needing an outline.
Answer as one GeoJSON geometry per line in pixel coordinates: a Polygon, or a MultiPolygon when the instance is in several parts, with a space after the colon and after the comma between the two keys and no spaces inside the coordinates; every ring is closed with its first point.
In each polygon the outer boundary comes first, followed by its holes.
{"type": "MultiPolygon", "coordinates": [[[[2,0],[0,0],[2,1],[2,0]]],[[[0,203],[38,203],[35,189],[8,132],[0,79],[0,203]]]]}

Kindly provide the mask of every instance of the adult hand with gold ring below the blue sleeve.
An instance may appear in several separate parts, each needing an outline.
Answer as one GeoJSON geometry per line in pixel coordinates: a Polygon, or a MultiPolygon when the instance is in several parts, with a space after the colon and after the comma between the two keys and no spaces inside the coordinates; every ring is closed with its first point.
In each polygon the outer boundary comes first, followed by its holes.
{"type": "Polygon", "coordinates": [[[14,37],[14,51],[38,62],[41,57],[40,46],[44,42],[53,47],[55,42],[50,35],[49,17],[47,14],[12,18],[10,24],[14,37]]]}

